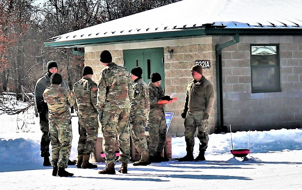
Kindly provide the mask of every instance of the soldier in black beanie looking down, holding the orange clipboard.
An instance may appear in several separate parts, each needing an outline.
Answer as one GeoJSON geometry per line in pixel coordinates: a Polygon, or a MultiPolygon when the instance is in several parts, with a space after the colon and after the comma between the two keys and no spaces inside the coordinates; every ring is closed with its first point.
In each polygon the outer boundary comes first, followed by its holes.
{"type": "Polygon", "coordinates": [[[165,96],[160,82],[162,77],[158,72],[153,72],[150,75],[151,81],[148,84],[150,114],[147,121],[149,130],[149,154],[151,162],[168,161],[161,156],[165,147],[167,124],[165,120],[164,105],[158,104],[161,100],[172,100],[170,96],[165,96]]]}

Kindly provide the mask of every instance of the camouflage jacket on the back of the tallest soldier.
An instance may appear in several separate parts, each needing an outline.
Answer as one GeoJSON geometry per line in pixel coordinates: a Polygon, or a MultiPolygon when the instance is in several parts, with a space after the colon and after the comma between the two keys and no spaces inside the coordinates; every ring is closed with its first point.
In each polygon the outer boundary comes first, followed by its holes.
{"type": "Polygon", "coordinates": [[[130,109],[133,99],[129,71],[113,62],[101,70],[98,83],[98,110],[130,109]]]}

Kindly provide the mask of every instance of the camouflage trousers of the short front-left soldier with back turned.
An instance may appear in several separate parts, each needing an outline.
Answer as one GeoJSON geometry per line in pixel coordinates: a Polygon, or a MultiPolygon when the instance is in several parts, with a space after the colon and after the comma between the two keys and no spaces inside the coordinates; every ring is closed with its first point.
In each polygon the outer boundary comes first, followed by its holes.
{"type": "Polygon", "coordinates": [[[67,168],[72,141],[71,120],[50,119],[49,132],[52,146],[50,163],[53,167],[67,168]]]}

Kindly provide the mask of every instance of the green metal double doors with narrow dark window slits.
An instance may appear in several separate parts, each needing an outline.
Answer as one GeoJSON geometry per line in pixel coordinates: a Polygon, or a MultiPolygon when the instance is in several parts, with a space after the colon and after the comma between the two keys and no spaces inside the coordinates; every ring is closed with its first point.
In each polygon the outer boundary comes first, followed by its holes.
{"type": "Polygon", "coordinates": [[[123,53],[124,66],[129,71],[140,66],[143,69],[142,78],[146,83],[149,83],[152,72],[158,72],[162,76],[161,86],[165,88],[164,48],[124,50],[123,53]]]}

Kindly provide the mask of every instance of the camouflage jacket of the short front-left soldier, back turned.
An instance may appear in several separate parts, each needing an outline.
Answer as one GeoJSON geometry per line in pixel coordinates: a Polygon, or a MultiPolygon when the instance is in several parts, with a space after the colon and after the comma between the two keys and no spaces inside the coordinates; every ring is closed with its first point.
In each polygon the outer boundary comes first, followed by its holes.
{"type": "Polygon", "coordinates": [[[70,90],[51,84],[44,90],[43,98],[48,105],[48,118],[71,119],[69,108],[76,102],[76,99],[70,90]]]}

